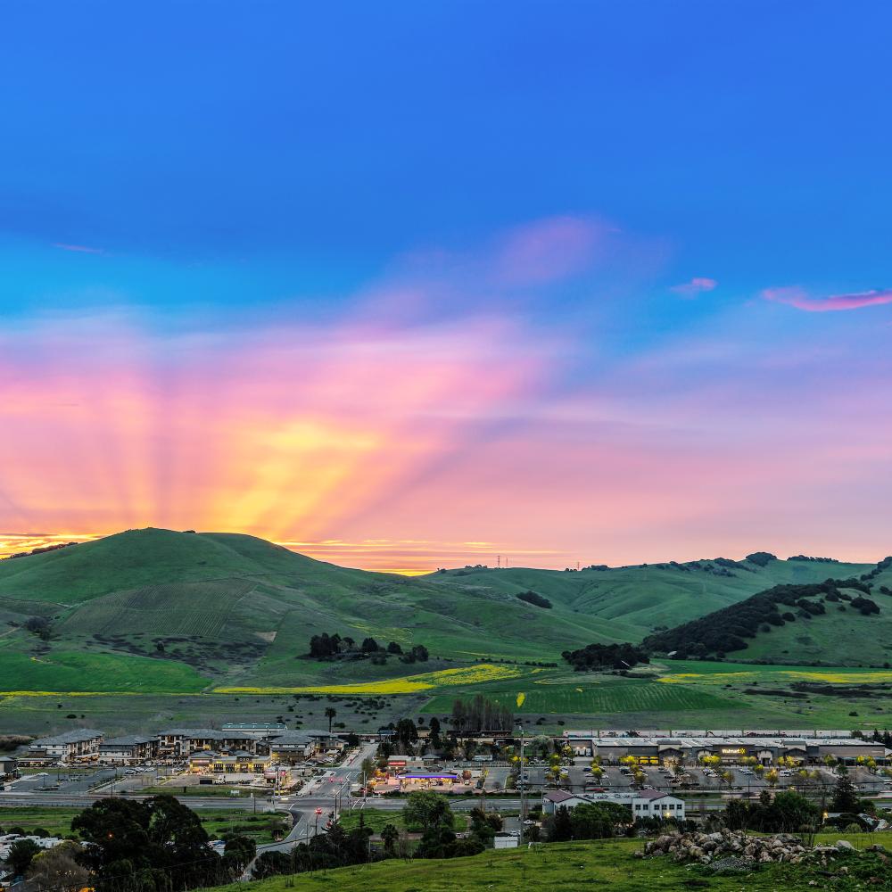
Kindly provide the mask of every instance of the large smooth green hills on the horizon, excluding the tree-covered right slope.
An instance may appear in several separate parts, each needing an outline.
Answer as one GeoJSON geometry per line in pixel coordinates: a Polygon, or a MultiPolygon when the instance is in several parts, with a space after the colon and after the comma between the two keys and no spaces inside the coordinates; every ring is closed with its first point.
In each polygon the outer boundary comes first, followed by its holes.
{"type": "Polygon", "coordinates": [[[780,582],[871,566],[719,559],[408,578],[252,536],[132,530],[0,561],[0,692],[192,693],[386,679],[483,659],[550,662],[567,648],[640,640],[780,582]],[[525,591],[550,607],[519,599],[525,591]],[[42,637],[41,617],[50,630],[42,637]],[[384,665],[305,658],[310,636],[322,632],[423,644],[431,659],[419,667],[396,657],[384,665]]]}

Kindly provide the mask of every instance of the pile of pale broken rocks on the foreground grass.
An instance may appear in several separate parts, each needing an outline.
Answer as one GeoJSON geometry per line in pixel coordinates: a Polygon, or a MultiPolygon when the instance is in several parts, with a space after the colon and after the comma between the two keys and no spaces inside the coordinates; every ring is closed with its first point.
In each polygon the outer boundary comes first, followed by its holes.
{"type": "Polygon", "coordinates": [[[834,855],[849,854],[852,849],[852,845],[844,840],[836,846],[809,848],[800,838],[786,833],[756,837],[747,836],[741,830],[721,830],[716,833],[665,833],[648,841],[639,856],[668,855],[674,861],[712,864],[716,869],[736,871],[768,863],[827,863],[834,855]]]}

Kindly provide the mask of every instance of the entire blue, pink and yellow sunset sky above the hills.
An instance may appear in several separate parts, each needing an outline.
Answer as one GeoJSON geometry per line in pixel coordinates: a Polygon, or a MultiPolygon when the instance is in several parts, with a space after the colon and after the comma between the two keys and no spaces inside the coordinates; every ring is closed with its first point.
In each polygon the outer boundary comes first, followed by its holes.
{"type": "Polygon", "coordinates": [[[888,4],[0,19],[0,555],[892,551],[888,4]]]}

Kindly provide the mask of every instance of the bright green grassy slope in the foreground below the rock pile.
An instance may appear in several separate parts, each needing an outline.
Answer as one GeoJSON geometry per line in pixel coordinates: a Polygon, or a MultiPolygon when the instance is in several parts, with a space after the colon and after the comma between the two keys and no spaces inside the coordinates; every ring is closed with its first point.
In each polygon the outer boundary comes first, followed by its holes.
{"type": "MultiPolygon", "coordinates": [[[[813,871],[794,866],[769,866],[762,871],[733,876],[709,876],[698,866],[677,864],[666,858],[637,859],[640,840],[558,843],[535,850],[487,852],[450,861],[385,861],[335,871],[318,871],[294,877],[277,877],[253,883],[258,892],[285,889],[337,889],[339,892],[465,892],[486,889],[578,890],[603,888],[610,892],[677,892],[709,888],[717,892],[798,892],[809,885],[813,871]]],[[[857,888],[855,878],[818,877],[820,888],[857,888]]],[[[239,887],[227,887],[236,892],[239,887]]],[[[880,886],[875,888],[888,888],[880,886]]]]}

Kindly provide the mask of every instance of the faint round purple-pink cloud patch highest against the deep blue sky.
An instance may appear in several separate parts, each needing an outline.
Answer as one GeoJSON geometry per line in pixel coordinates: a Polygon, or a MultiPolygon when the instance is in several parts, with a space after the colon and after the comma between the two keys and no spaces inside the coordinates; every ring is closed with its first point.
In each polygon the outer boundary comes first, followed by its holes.
{"type": "Polygon", "coordinates": [[[572,276],[596,259],[606,236],[615,231],[571,216],[517,227],[500,245],[493,262],[494,277],[505,285],[541,285],[572,276]]]}

